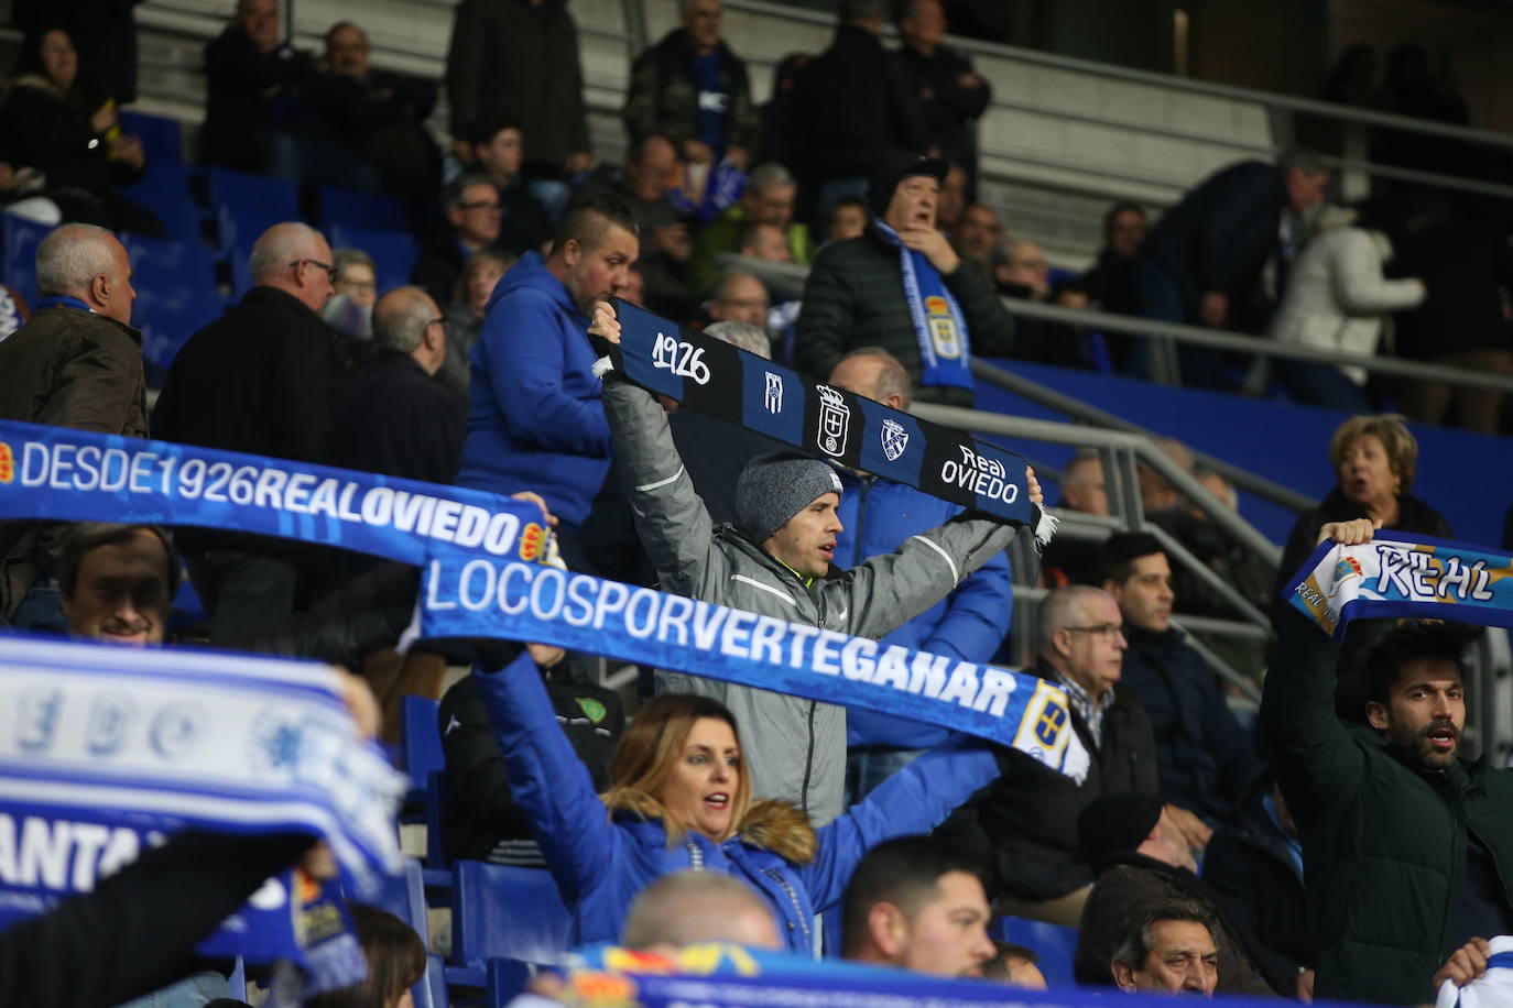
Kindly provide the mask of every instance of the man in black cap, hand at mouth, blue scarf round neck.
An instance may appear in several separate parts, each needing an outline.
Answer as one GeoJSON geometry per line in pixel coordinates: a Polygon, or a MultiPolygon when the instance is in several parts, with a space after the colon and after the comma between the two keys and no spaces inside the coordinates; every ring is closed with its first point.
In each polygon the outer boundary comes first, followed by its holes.
{"type": "Polygon", "coordinates": [[[881,346],[909,370],[917,400],[973,405],[971,354],[1008,354],[1014,320],[935,228],[947,168],[908,151],[881,163],[865,233],[822,249],[809,269],[799,370],[829,375],[849,351],[881,346]]]}

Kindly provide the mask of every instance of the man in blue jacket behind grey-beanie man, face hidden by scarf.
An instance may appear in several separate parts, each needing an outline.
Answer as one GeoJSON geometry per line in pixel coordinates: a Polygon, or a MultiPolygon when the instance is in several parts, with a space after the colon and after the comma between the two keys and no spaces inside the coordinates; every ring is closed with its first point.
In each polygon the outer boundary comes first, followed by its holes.
{"type": "MultiPolygon", "coordinates": [[[[894,410],[908,410],[914,390],[909,372],[881,346],[864,346],[843,357],[831,372],[829,384],[894,410]]],[[[887,444],[884,450],[888,450],[887,444]]],[[[841,470],[841,484],[846,490],[837,515],[844,530],[837,536],[835,564],[843,568],[891,553],[911,535],[944,524],[961,512],[958,505],[871,473],[841,470]]],[[[1009,558],[1000,552],[956,591],[882,641],[949,654],[959,662],[990,662],[1014,614],[1011,580],[1009,558]]],[[[944,742],[947,734],[946,728],[905,718],[847,710],[847,804],[861,801],[921,751],[944,742]]]]}

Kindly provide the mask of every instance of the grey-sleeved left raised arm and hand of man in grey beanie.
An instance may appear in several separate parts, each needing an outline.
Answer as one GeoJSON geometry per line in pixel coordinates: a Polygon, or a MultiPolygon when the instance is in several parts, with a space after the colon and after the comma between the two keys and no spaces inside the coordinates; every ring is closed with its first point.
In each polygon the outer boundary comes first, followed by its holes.
{"type": "MultiPolygon", "coordinates": [[[[592,332],[619,342],[620,325],[610,305],[599,305],[593,320],[592,332]]],[[[714,521],[682,467],[666,411],[652,393],[608,372],[604,413],[635,529],[663,591],[708,597],[702,589],[723,582],[725,558],[714,549],[714,521]]]]}

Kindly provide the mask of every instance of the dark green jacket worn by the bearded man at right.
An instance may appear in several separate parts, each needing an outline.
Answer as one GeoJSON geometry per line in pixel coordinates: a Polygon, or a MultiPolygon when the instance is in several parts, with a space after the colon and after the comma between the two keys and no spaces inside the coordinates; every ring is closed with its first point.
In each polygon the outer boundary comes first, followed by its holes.
{"type": "MultiPolygon", "coordinates": [[[[1415,1005],[1460,943],[1466,834],[1513,866],[1513,771],[1460,760],[1425,772],[1363,724],[1334,716],[1337,648],[1283,612],[1260,722],[1303,836],[1319,999],[1415,1005]]],[[[1508,870],[1502,899],[1513,904],[1508,870]]]]}

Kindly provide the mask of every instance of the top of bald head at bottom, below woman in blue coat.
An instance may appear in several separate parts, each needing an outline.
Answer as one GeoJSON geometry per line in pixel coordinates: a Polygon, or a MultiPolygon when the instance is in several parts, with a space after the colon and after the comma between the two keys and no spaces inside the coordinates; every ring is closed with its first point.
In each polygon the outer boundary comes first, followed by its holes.
{"type": "Polygon", "coordinates": [[[767,902],[746,883],[714,872],[664,875],[643,889],[625,916],[620,940],[638,951],[696,942],[782,949],[767,902]]]}

